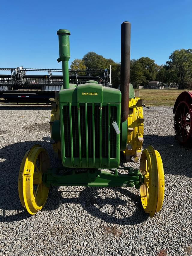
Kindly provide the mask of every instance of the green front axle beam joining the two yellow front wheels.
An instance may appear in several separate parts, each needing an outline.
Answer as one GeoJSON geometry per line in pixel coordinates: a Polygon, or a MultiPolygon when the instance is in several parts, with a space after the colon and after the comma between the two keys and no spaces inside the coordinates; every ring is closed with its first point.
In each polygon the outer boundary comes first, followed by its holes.
{"type": "Polygon", "coordinates": [[[66,172],[59,169],[50,169],[43,173],[42,180],[47,187],[53,186],[85,186],[85,187],[133,187],[140,188],[144,182],[144,177],[139,169],[132,167],[125,168],[128,174],[122,174],[115,170],[104,171],[87,169],[79,171],[77,169],[66,172]],[[61,173],[61,174],[59,174],[61,173]]]}

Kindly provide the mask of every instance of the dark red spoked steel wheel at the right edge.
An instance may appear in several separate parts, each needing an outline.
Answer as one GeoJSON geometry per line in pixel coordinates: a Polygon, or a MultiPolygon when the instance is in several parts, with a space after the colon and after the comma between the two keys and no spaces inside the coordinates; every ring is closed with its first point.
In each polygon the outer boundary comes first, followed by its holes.
{"type": "Polygon", "coordinates": [[[179,143],[186,145],[192,141],[192,104],[181,101],[175,112],[175,133],[179,143]]]}

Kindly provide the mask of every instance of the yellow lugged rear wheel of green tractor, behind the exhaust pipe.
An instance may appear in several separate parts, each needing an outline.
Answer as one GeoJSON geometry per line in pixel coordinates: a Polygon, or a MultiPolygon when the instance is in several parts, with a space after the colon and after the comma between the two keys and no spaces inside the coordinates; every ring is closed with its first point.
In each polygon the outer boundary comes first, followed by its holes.
{"type": "Polygon", "coordinates": [[[142,100],[139,97],[129,99],[129,116],[127,121],[127,147],[124,151],[124,156],[126,161],[130,161],[130,157],[134,156],[134,162],[137,163],[138,158],[141,156],[144,122],[142,100]]]}

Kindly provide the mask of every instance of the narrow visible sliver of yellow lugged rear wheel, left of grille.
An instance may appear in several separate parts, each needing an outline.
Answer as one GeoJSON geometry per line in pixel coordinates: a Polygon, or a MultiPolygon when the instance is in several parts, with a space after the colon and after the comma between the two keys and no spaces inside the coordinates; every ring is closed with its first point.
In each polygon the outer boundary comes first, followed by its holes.
{"type": "MultiPolygon", "coordinates": [[[[51,120],[50,120],[51,127],[50,128],[52,128],[52,123],[55,120],[59,120],[58,92],[55,93],[55,100],[52,103],[51,120]]],[[[52,139],[52,133],[51,133],[51,139],[52,139]]],[[[54,157],[55,158],[61,158],[61,142],[60,141],[52,141],[52,147],[53,147],[54,157]]]]}

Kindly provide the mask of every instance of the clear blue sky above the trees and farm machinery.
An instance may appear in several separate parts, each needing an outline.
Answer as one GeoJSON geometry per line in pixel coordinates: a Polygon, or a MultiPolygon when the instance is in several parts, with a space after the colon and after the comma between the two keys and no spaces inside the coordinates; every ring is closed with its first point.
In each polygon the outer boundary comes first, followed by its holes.
{"type": "Polygon", "coordinates": [[[131,59],[165,64],[192,48],[192,1],[4,1],[0,68],[61,68],[58,29],[69,29],[70,63],[89,51],[120,62],[121,23],[131,22],[131,59]]]}

